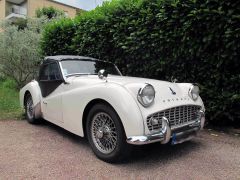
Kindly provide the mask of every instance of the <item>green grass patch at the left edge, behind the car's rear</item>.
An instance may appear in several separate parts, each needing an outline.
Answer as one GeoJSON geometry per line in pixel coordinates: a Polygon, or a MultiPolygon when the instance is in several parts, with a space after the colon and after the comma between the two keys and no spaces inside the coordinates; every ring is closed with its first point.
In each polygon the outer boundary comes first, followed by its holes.
{"type": "Polygon", "coordinates": [[[11,80],[0,81],[0,120],[22,119],[19,92],[11,80]]]}

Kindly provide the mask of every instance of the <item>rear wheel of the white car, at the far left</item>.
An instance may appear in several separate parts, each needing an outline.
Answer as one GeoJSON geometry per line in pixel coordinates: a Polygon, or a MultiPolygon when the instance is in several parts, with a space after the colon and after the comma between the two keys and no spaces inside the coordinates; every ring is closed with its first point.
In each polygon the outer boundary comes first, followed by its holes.
{"type": "Polygon", "coordinates": [[[29,123],[37,124],[39,122],[39,120],[35,118],[35,109],[34,109],[33,99],[32,99],[31,94],[26,95],[25,115],[26,115],[26,119],[29,123]]]}

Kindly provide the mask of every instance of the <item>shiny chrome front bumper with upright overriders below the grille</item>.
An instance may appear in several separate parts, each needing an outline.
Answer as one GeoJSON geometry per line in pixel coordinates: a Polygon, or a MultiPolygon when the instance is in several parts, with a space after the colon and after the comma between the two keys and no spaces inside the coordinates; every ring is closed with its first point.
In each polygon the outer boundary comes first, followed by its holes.
{"type": "Polygon", "coordinates": [[[143,145],[154,142],[161,142],[162,144],[166,144],[170,141],[171,138],[173,140],[173,144],[181,143],[196,136],[197,132],[203,128],[204,123],[205,115],[203,111],[201,111],[201,115],[196,121],[173,128],[170,127],[168,119],[166,117],[163,117],[162,128],[159,132],[144,136],[128,137],[127,143],[134,145],[143,145]]]}

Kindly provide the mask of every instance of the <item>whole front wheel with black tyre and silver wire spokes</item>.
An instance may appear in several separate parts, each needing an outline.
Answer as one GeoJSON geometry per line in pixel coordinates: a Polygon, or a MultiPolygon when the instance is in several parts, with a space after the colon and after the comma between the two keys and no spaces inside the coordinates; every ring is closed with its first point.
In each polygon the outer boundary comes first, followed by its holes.
{"type": "Polygon", "coordinates": [[[120,118],[105,104],[95,105],[87,118],[87,136],[95,155],[106,162],[125,159],[131,151],[120,118]]]}

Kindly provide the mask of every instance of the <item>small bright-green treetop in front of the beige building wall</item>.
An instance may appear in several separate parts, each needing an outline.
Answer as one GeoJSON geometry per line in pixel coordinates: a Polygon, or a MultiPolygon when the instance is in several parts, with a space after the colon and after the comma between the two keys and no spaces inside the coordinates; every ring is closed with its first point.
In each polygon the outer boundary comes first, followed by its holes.
{"type": "Polygon", "coordinates": [[[65,16],[64,11],[56,9],[52,6],[39,8],[35,12],[37,18],[47,17],[48,19],[57,18],[59,16],[65,16]]]}

